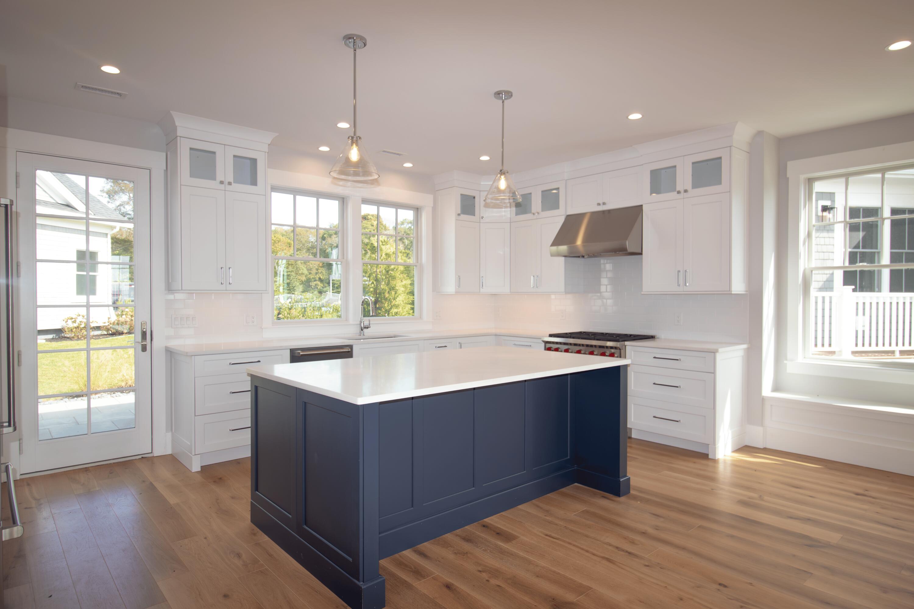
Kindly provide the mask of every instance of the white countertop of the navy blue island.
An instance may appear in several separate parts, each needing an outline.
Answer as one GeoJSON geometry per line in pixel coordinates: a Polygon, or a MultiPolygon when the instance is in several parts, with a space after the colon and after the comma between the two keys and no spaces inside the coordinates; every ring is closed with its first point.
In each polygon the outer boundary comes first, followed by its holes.
{"type": "Polygon", "coordinates": [[[556,355],[513,347],[478,347],[253,366],[247,373],[352,404],[373,404],[582,373],[631,362],[575,353],[556,355]]]}

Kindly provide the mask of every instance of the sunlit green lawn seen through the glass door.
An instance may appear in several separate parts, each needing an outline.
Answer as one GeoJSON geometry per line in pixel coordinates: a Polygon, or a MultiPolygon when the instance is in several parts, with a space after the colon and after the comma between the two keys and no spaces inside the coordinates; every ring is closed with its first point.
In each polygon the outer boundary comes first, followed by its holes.
{"type": "MultiPolygon", "coordinates": [[[[85,341],[39,342],[38,394],[69,394],[86,391],[86,352],[43,353],[55,349],[80,349],[85,341]]],[[[92,347],[133,345],[133,334],[93,338],[92,347]]],[[[91,352],[92,390],[133,387],[133,350],[91,352]]]]}

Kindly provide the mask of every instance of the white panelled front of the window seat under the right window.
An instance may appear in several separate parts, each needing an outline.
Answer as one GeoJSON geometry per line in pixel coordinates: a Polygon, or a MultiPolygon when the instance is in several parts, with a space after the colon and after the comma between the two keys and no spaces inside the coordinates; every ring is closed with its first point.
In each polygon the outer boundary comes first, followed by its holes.
{"type": "Polygon", "coordinates": [[[914,411],[766,396],[764,424],[760,447],[914,476],[914,411]]]}

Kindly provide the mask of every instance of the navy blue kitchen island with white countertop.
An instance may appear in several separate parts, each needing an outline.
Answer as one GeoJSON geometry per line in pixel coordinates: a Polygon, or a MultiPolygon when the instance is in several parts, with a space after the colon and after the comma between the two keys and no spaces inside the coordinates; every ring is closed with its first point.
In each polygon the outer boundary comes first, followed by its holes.
{"type": "Polygon", "coordinates": [[[485,347],[251,368],[250,521],[380,609],[383,558],[571,484],[628,494],[627,363],[485,347]]]}

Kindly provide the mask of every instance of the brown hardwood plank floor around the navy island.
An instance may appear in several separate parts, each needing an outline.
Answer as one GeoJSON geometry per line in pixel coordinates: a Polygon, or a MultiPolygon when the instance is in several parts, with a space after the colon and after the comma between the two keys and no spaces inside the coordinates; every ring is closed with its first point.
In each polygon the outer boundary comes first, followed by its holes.
{"type": "MultiPolygon", "coordinates": [[[[384,560],[388,607],[914,607],[914,478],[639,440],[629,472],[627,497],[564,488],[384,560]]],[[[249,459],[22,478],[6,606],[344,609],[250,524],[249,488],[249,459]]]]}

